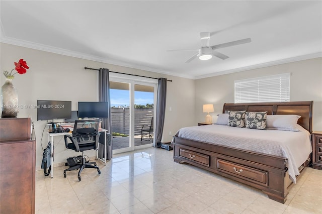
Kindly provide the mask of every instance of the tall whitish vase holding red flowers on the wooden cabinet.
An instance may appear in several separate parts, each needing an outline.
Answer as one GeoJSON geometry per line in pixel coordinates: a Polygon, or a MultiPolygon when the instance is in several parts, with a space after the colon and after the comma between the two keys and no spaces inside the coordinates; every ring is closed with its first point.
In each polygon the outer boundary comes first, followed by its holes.
{"type": "Polygon", "coordinates": [[[12,84],[12,79],[7,78],[5,84],[1,87],[1,103],[1,118],[17,118],[19,111],[18,92],[12,84]]]}

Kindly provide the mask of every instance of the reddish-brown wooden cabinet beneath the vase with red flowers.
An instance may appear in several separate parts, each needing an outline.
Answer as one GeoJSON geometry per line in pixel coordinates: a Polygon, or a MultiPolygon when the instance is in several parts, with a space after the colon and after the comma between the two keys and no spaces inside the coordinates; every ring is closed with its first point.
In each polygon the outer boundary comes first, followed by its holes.
{"type": "Polygon", "coordinates": [[[36,141],[30,118],[0,119],[0,213],[35,213],[36,141]]]}

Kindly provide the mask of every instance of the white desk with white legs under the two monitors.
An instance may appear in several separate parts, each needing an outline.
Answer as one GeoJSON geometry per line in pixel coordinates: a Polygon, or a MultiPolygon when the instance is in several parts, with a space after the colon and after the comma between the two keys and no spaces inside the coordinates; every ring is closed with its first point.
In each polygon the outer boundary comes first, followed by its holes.
{"type": "MultiPolygon", "coordinates": [[[[51,124],[47,124],[47,126],[51,126],[51,124]]],[[[61,124],[61,126],[63,126],[61,124]]],[[[72,131],[72,128],[70,129],[70,131],[72,131]]],[[[96,159],[97,160],[100,160],[104,163],[104,165],[106,165],[106,159],[107,159],[107,149],[106,149],[106,135],[107,135],[107,130],[106,129],[99,129],[99,132],[102,133],[104,132],[104,158],[99,158],[98,154],[99,154],[99,151],[98,151],[98,148],[96,148],[96,159]]],[[[51,174],[50,174],[50,177],[53,178],[53,173],[54,173],[54,167],[53,167],[53,163],[54,163],[54,137],[56,136],[64,136],[64,135],[72,135],[72,133],[69,133],[69,132],[63,132],[63,133],[49,133],[47,132],[48,134],[48,141],[50,141],[51,143],[51,174]]]]}

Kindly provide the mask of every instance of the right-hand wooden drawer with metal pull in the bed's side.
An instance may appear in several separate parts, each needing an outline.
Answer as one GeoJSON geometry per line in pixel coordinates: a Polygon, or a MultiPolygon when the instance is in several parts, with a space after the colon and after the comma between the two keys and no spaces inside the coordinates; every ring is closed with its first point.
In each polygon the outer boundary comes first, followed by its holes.
{"type": "Polygon", "coordinates": [[[217,158],[217,169],[227,174],[267,186],[267,172],[217,158]]]}

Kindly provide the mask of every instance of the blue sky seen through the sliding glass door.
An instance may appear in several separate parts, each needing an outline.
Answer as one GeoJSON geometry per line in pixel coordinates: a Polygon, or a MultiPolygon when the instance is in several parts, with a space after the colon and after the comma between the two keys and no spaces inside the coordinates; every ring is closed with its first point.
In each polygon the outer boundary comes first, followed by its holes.
{"type": "MultiPolygon", "coordinates": [[[[129,106],[130,94],[128,90],[110,89],[111,106],[129,106]]],[[[134,104],[146,105],[153,103],[153,92],[134,91],[134,104]]]]}

